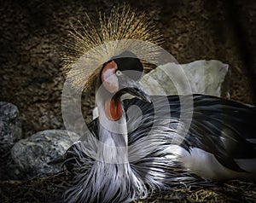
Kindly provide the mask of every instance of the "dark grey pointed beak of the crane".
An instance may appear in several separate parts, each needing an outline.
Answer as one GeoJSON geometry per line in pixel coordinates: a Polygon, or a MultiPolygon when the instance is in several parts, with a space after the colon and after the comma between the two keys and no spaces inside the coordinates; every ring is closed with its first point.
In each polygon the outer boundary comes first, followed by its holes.
{"type": "Polygon", "coordinates": [[[136,80],[133,80],[125,74],[119,76],[119,91],[114,95],[114,98],[117,100],[120,96],[124,94],[130,94],[131,96],[136,96],[138,99],[143,100],[144,102],[151,102],[150,96],[143,90],[141,84],[136,80]]]}

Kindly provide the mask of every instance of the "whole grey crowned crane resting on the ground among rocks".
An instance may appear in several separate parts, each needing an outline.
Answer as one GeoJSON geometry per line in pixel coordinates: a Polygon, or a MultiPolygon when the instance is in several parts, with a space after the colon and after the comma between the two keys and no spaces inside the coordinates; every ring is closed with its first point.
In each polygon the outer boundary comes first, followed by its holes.
{"type": "Polygon", "coordinates": [[[100,31],[89,25],[84,35],[74,33],[74,54],[67,55],[74,88],[98,81],[99,109],[87,136],[67,151],[67,169],[73,171],[67,201],[127,202],[154,189],[207,183],[203,178],[256,178],[255,107],[214,96],[148,96],[138,83],[140,56],[154,58],[157,50],[148,46],[148,54],[144,47],[142,54],[129,40],[158,44],[157,32],[127,7],[113,9],[100,31]],[[135,98],[123,99],[126,93],[135,98]],[[180,101],[189,99],[193,108],[183,107],[181,119],[180,101]],[[188,132],[181,136],[177,128],[185,128],[189,115],[188,132]]]}

